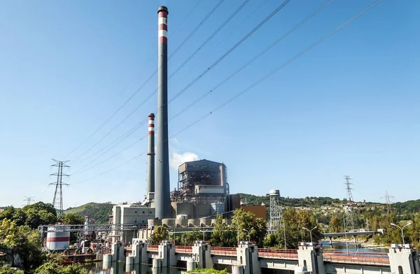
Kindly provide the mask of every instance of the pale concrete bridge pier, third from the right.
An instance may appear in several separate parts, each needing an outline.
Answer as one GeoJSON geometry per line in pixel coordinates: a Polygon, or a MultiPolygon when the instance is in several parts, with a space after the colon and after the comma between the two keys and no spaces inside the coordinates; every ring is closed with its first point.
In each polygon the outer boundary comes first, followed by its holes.
{"type": "Polygon", "coordinates": [[[258,247],[249,242],[241,242],[237,247],[237,262],[238,266],[244,268],[243,274],[261,273],[260,261],[258,261],[258,247]]]}

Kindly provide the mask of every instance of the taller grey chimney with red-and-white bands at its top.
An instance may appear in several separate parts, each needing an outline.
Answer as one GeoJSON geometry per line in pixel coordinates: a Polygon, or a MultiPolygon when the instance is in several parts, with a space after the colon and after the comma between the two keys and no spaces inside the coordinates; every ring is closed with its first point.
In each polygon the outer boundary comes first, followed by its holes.
{"type": "Polygon", "coordinates": [[[158,159],[156,161],[155,212],[158,219],[171,217],[168,145],[168,9],[158,9],[158,159]]]}

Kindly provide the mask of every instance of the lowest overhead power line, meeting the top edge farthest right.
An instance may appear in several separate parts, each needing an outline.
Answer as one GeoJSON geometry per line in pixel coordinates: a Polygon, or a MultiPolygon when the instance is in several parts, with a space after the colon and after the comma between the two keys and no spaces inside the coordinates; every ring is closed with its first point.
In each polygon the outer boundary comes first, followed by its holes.
{"type": "MultiPolygon", "coordinates": [[[[323,41],[325,41],[327,38],[329,38],[330,36],[332,36],[332,34],[335,34],[337,31],[339,31],[340,29],[342,29],[343,27],[345,27],[347,24],[349,24],[350,22],[352,22],[353,20],[356,20],[356,18],[360,17],[361,15],[363,15],[364,13],[367,12],[367,10],[370,10],[371,8],[373,8],[374,6],[377,5],[377,3],[379,3],[381,0],[376,0],[373,3],[370,4],[370,6],[367,6],[367,8],[364,8],[363,10],[361,10],[359,13],[357,13],[356,15],[354,15],[353,17],[351,17],[349,20],[347,20],[346,22],[344,22],[343,24],[339,25],[339,27],[337,27],[336,29],[330,31],[328,34],[326,34],[325,36],[322,36],[321,38],[319,38],[317,41],[315,41],[314,43],[312,43],[311,45],[309,45],[309,47],[305,48],[304,50],[302,50],[301,52],[299,52],[297,55],[293,56],[292,58],[288,59],[288,61],[284,62],[283,64],[281,64],[281,66],[278,66],[276,69],[274,69],[273,71],[267,73],[265,76],[263,76],[262,78],[260,78],[259,80],[257,80],[256,82],[254,82],[252,85],[248,86],[246,89],[243,89],[241,92],[239,92],[238,94],[236,94],[235,96],[232,96],[230,99],[228,99],[227,101],[225,101],[224,103],[222,103],[220,106],[214,108],[214,110],[211,110],[209,113],[207,113],[206,115],[203,115],[202,117],[200,117],[199,119],[195,120],[194,122],[190,123],[187,127],[181,129],[180,131],[177,131],[176,134],[173,134],[172,136],[170,136],[169,138],[173,138],[174,136],[181,134],[181,132],[186,131],[187,129],[189,129],[190,127],[193,127],[195,124],[197,124],[198,122],[204,120],[205,118],[209,117],[209,115],[215,113],[217,110],[220,110],[221,108],[223,108],[224,106],[228,105],[228,103],[231,103],[232,101],[234,101],[235,99],[237,99],[239,96],[245,94],[246,92],[248,92],[250,89],[253,89],[253,87],[255,87],[256,85],[259,85],[261,82],[263,82],[264,80],[266,80],[267,78],[269,78],[270,76],[274,75],[274,73],[276,73],[277,71],[283,69],[285,66],[287,66],[288,64],[290,64],[291,62],[295,61],[297,58],[301,57],[302,55],[304,55],[306,52],[308,52],[309,50],[311,50],[312,48],[315,48],[316,45],[319,45],[320,43],[322,43],[323,41]]],[[[165,140],[167,141],[167,140],[165,140]]],[[[134,161],[135,159],[141,157],[141,155],[143,155],[146,152],[143,152],[141,154],[138,154],[134,157],[132,157],[131,159],[128,159],[127,161],[125,161],[123,164],[120,164],[118,166],[114,166],[113,168],[104,171],[103,173],[100,173],[99,175],[96,175],[92,178],[87,178],[85,180],[81,180],[76,182],[75,184],[78,184],[80,182],[85,182],[87,180],[92,180],[94,178],[98,178],[106,173],[109,173],[117,168],[119,168],[120,166],[124,166],[125,164],[128,164],[130,161],[134,161]]]]}

